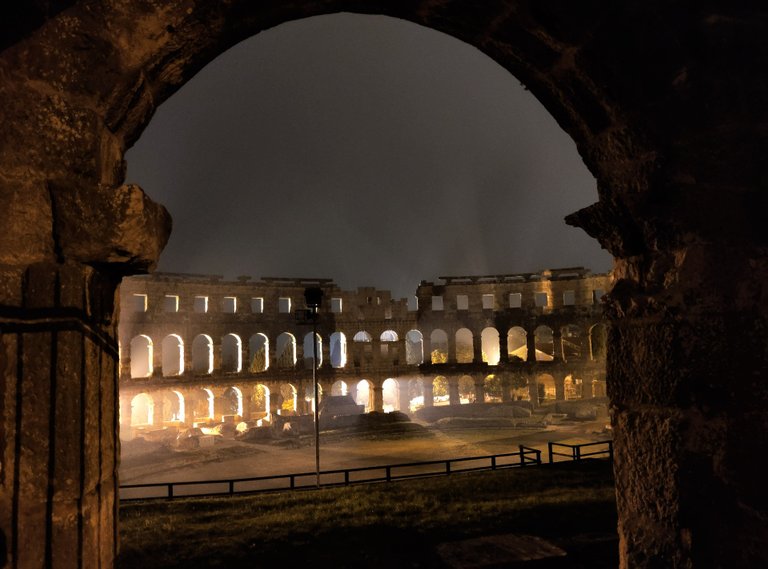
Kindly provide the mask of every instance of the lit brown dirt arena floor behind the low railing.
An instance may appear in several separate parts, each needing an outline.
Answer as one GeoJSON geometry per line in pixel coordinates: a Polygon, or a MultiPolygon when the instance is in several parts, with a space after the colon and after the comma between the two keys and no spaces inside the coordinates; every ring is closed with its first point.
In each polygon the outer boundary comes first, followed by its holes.
{"type": "MultiPolygon", "coordinates": [[[[518,445],[546,451],[547,442],[593,442],[611,438],[605,419],[556,420],[520,424],[506,420],[411,421],[386,428],[323,431],[320,468],[355,468],[514,452],[518,445]]],[[[161,439],[163,433],[152,438],[161,439]]],[[[213,445],[194,450],[165,441],[137,438],[122,442],[120,483],[221,480],[314,472],[314,436],[275,433],[243,442],[216,436],[213,445]]],[[[544,455],[542,455],[544,456],[544,455]]]]}

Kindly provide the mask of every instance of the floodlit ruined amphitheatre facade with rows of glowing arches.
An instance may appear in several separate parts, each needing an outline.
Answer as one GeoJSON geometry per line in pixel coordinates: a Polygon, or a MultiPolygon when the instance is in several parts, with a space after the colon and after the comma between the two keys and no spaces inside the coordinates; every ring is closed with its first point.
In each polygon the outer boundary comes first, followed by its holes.
{"type": "Polygon", "coordinates": [[[310,413],[313,325],[297,318],[307,287],[324,293],[315,324],[322,393],[349,393],[367,411],[605,394],[608,275],[574,268],[441,279],[422,282],[410,306],[388,291],[344,291],[323,279],[126,279],[123,436],[310,413]]]}

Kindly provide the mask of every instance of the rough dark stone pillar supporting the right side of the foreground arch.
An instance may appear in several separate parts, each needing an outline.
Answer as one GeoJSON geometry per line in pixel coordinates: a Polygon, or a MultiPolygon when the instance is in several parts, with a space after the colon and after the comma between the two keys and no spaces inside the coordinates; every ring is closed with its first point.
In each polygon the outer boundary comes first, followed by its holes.
{"type": "Polygon", "coordinates": [[[623,566],[768,565],[765,251],[658,255],[666,286],[640,264],[617,265],[608,312],[623,566]]]}

